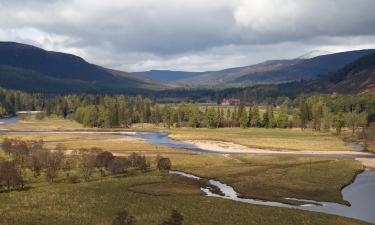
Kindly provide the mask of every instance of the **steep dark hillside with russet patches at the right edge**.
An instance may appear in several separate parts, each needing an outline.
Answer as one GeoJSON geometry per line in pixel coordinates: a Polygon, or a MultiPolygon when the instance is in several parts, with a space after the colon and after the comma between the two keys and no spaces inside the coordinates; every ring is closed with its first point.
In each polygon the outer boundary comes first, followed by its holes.
{"type": "Polygon", "coordinates": [[[363,56],[339,71],[304,85],[310,92],[375,92],[375,53],[363,56]]]}

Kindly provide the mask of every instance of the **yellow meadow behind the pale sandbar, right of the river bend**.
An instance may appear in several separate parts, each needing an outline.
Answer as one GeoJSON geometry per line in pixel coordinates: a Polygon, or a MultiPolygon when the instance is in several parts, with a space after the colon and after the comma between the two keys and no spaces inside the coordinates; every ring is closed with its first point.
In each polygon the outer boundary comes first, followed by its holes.
{"type": "Polygon", "coordinates": [[[274,150],[350,151],[351,147],[331,133],[300,129],[180,128],[167,130],[177,140],[220,140],[248,147],[274,150]]]}

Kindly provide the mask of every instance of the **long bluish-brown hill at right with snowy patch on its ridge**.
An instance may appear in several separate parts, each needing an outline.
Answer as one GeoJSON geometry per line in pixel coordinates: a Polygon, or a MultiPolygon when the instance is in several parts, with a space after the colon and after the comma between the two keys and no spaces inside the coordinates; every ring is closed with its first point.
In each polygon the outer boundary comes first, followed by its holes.
{"type": "MultiPolygon", "coordinates": [[[[315,54],[311,53],[309,56],[296,59],[271,60],[256,65],[229,68],[220,71],[208,71],[199,74],[184,72],[186,76],[190,76],[180,79],[180,76],[176,75],[173,78],[173,83],[223,88],[312,80],[319,76],[335,72],[346,64],[374,51],[373,49],[348,51],[309,58],[315,54]]],[[[162,75],[163,72],[161,71],[158,77],[162,75]]],[[[153,78],[158,79],[158,77],[153,78]]]]}

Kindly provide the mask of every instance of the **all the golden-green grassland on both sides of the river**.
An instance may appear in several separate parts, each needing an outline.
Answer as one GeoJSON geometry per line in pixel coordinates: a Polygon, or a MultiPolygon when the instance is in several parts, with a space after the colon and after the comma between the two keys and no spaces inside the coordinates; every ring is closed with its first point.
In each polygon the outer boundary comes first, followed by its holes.
{"type": "MultiPolygon", "coordinates": [[[[61,119],[22,121],[2,129],[72,130],[79,124],[61,119]]],[[[138,126],[135,130],[155,130],[138,126]]],[[[158,130],[160,128],[157,128],[158,130]]],[[[331,134],[299,130],[269,129],[170,129],[176,139],[224,140],[246,146],[298,150],[349,150],[331,134]]],[[[48,149],[63,143],[68,149],[100,147],[119,155],[138,152],[148,156],[162,154],[172,160],[173,168],[201,177],[215,178],[248,197],[286,201],[284,197],[345,203],[340,189],[362,169],[355,160],[302,157],[261,157],[200,155],[145,141],[110,134],[1,134],[4,137],[43,139],[48,149]]],[[[0,140],[1,141],[1,140],[0,140]]],[[[0,157],[8,157],[0,151],[0,157]]],[[[149,158],[151,161],[152,159],[149,158]]],[[[154,164],[153,164],[154,165],[154,164]]],[[[90,182],[68,184],[62,179],[48,183],[45,177],[26,179],[29,189],[0,193],[1,225],[98,224],[108,225],[115,214],[126,209],[137,224],[159,224],[173,208],[185,217],[184,225],[276,225],[276,224],[366,224],[359,221],[295,209],[256,206],[206,197],[201,183],[151,171],[131,172],[107,177],[98,172],[90,182]]]]}

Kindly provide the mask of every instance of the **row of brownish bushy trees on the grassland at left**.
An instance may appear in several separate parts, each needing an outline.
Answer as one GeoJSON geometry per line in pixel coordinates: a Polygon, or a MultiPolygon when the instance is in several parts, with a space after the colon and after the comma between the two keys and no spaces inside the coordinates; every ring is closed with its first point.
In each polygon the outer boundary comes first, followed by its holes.
{"type": "MultiPolygon", "coordinates": [[[[35,178],[44,174],[50,182],[62,176],[67,182],[77,183],[80,180],[89,181],[95,172],[99,172],[103,178],[109,174],[126,173],[129,169],[150,170],[150,162],[145,156],[132,153],[128,157],[117,157],[96,147],[68,151],[59,143],[55,149],[47,150],[43,140],[5,138],[2,149],[10,158],[0,158],[0,190],[7,191],[23,189],[28,171],[35,178]]],[[[155,164],[159,170],[171,168],[169,158],[157,156],[155,164]]]]}

